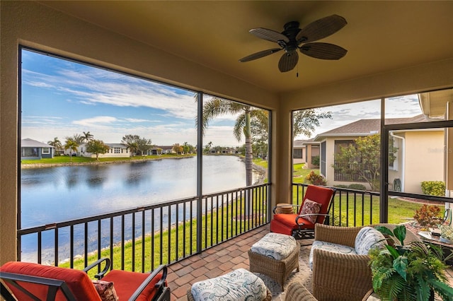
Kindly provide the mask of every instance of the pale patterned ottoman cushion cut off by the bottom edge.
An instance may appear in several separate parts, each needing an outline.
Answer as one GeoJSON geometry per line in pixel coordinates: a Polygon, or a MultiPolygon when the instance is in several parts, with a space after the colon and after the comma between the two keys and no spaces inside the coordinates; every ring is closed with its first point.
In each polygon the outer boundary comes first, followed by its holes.
{"type": "Polygon", "coordinates": [[[190,291],[197,301],[262,301],[267,295],[263,280],[244,268],[194,283],[190,291]]]}

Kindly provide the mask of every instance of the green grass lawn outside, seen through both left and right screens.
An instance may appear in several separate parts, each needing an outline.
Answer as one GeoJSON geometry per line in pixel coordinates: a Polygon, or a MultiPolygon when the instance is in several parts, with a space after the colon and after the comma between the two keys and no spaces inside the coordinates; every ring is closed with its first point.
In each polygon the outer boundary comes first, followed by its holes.
{"type": "MultiPolygon", "coordinates": [[[[253,160],[253,163],[267,168],[268,162],[265,160],[253,160]]],[[[314,170],[316,172],[316,170],[314,170]]],[[[294,165],[294,182],[303,183],[305,176],[309,174],[311,170],[305,170],[303,164],[294,165]]],[[[295,193],[294,193],[295,196],[295,193]]],[[[342,196],[342,203],[339,206],[340,196],[337,194],[334,199],[334,224],[338,225],[338,216],[341,216],[342,225],[362,225],[362,220],[365,225],[369,224],[370,206],[372,208],[372,222],[379,223],[379,198],[373,197],[371,203],[369,196],[357,196],[356,199],[350,197],[348,211],[346,207],[346,196],[342,196]],[[363,208],[363,215],[362,215],[363,208]]],[[[242,205],[243,206],[243,205],[242,205]]],[[[389,223],[402,223],[407,221],[407,218],[411,218],[414,211],[420,207],[419,203],[412,203],[403,201],[400,199],[389,199],[389,223]]],[[[255,207],[256,208],[256,207],[255,207]]],[[[225,206],[224,211],[219,208],[219,212],[212,211],[207,216],[202,217],[202,248],[210,247],[212,244],[222,242],[226,237],[231,237],[237,233],[245,230],[246,225],[244,223],[231,223],[231,216],[236,216],[236,202],[225,206]],[[229,218],[226,217],[228,211],[229,218]],[[232,226],[232,227],[231,227],[232,226]],[[229,230],[231,229],[232,230],[229,230]],[[236,229],[237,228],[237,229],[236,229]]],[[[261,208],[265,210],[265,208],[261,208]]],[[[164,230],[155,234],[154,236],[147,236],[144,239],[144,254],[145,264],[144,270],[149,271],[156,266],[159,266],[160,262],[167,264],[169,261],[173,262],[188,254],[196,252],[196,227],[197,220],[188,221],[180,224],[178,228],[172,228],[170,232],[164,230]],[[190,231],[192,228],[192,232],[190,231]],[[185,241],[179,239],[178,244],[176,243],[176,232],[178,237],[185,237],[185,241]],[[168,239],[170,236],[170,240],[168,239]],[[170,244],[170,247],[168,246],[170,244]],[[170,251],[168,251],[170,249],[170,251]],[[152,255],[151,255],[152,254],[152,255]]],[[[132,257],[134,257],[134,270],[142,271],[142,240],[138,239],[134,245],[132,242],[126,242],[123,248],[119,245],[113,248],[113,268],[121,268],[121,258],[124,256],[124,266],[126,270],[132,270],[132,257]],[[122,255],[123,254],[123,255],[122,255]]],[[[110,249],[105,249],[101,252],[101,257],[110,257],[110,249]]],[[[88,263],[98,259],[98,254],[94,252],[88,256],[88,263]]],[[[60,266],[69,267],[69,263],[61,264],[60,266]]],[[[84,268],[84,259],[78,259],[74,261],[74,268],[84,268]]],[[[94,271],[93,271],[94,272],[94,271]]],[[[91,273],[93,276],[94,273],[91,273]]]]}

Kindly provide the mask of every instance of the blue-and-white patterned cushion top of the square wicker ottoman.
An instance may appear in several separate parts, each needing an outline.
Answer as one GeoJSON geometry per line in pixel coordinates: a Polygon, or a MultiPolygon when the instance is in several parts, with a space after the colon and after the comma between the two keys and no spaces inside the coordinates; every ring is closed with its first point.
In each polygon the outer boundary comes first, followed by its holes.
{"type": "Polygon", "coordinates": [[[294,237],[271,232],[253,244],[251,251],[273,259],[282,260],[287,258],[296,247],[297,242],[294,237]]]}

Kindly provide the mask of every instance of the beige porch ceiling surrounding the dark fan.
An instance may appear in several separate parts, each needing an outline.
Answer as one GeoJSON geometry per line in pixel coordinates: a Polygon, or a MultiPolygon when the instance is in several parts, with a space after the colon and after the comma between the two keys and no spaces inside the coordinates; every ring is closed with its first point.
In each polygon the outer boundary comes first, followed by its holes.
{"type": "Polygon", "coordinates": [[[346,81],[453,57],[453,1],[40,1],[71,16],[197,64],[276,92],[346,81]],[[324,61],[299,54],[293,71],[277,68],[282,52],[240,63],[275,48],[248,33],[301,28],[337,14],[348,25],[320,42],[348,49],[324,61]],[[296,73],[299,73],[299,77],[296,73]]]}

